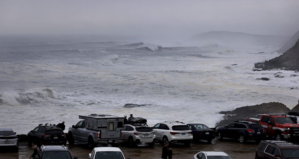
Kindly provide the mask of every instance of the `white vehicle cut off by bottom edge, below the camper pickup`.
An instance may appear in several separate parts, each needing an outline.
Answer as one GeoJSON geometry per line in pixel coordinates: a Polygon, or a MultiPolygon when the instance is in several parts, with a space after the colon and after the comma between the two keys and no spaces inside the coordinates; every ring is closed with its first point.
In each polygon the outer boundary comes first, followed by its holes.
{"type": "MultiPolygon", "coordinates": [[[[96,147],[89,154],[89,159],[125,159],[123,152],[117,147],[96,147]]],[[[127,158],[129,159],[129,158],[127,158]]]]}

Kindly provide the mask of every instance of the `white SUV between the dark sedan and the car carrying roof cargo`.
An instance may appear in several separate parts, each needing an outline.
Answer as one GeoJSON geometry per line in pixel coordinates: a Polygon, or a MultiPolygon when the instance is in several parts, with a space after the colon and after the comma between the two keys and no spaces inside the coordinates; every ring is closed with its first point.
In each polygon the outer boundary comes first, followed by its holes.
{"type": "Polygon", "coordinates": [[[184,143],[190,145],[193,139],[192,131],[187,124],[179,121],[165,121],[155,124],[152,127],[156,134],[156,140],[169,143],[184,143]]]}

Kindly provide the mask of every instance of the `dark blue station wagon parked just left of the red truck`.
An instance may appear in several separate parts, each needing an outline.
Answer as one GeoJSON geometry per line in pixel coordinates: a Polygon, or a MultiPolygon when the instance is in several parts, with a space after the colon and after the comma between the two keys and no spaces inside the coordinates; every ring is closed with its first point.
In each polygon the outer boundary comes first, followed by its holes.
{"type": "Polygon", "coordinates": [[[261,124],[249,121],[234,121],[228,124],[228,126],[218,127],[215,132],[219,140],[222,140],[224,137],[234,138],[240,143],[245,143],[247,140],[260,142],[266,136],[261,124]]]}

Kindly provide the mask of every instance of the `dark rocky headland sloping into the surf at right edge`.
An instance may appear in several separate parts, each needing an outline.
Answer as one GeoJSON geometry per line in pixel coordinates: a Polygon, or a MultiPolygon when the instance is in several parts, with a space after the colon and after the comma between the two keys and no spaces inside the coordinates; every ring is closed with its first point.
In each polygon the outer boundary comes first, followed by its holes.
{"type": "Polygon", "coordinates": [[[298,70],[299,69],[299,40],[296,44],[287,50],[282,55],[273,58],[269,61],[259,62],[254,64],[255,68],[268,69],[284,69],[284,70],[298,70]]]}

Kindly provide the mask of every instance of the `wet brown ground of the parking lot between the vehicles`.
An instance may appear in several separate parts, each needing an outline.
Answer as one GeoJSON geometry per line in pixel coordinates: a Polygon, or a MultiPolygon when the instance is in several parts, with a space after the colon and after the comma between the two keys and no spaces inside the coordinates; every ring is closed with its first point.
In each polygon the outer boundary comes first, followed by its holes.
{"type": "MultiPolygon", "coordinates": [[[[66,145],[73,157],[79,159],[88,159],[91,150],[86,147],[84,143],[76,143],[75,145],[66,145]]],[[[100,145],[99,145],[100,146],[100,145]]],[[[125,158],[131,159],[157,159],[161,158],[162,146],[156,143],[154,147],[148,147],[147,144],[141,144],[137,147],[127,147],[121,145],[119,148],[122,150],[125,158]]],[[[223,139],[219,141],[213,140],[212,143],[200,141],[198,143],[191,143],[186,147],[183,144],[173,144],[173,159],[192,159],[193,156],[200,151],[223,151],[226,152],[232,159],[254,159],[255,150],[258,143],[248,141],[245,144],[238,143],[233,139],[223,139]]],[[[0,159],[28,159],[32,153],[32,148],[27,146],[27,143],[20,143],[19,152],[8,152],[1,150],[0,159]]]]}

